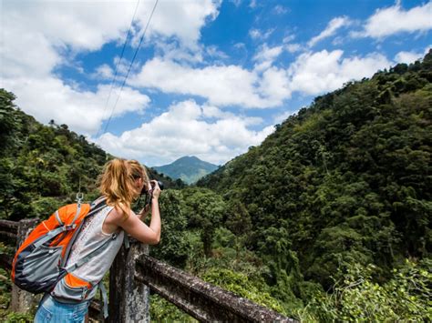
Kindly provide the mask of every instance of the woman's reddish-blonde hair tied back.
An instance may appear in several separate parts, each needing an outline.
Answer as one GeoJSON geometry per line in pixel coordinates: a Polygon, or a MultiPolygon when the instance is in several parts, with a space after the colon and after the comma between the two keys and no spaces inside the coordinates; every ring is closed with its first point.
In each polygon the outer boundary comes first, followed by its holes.
{"type": "Polygon", "coordinates": [[[107,197],[107,204],[119,207],[125,217],[129,217],[130,204],[141,193],[136,186],[137,178],[142,178],[145,185],[149,182],[147,170],[137,160],[115,158],[105,164],[99,177],[99,190],[107,197]]]}

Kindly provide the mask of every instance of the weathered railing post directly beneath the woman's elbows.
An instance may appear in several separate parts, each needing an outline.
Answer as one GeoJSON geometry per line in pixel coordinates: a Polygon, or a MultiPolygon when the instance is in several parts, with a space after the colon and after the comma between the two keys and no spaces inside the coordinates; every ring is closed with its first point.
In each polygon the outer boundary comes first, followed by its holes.
{"type": "Polygon", "coordinates": [[[129,238],[109,271],[108,322],[149,322],[149,287],[135,281],[136,260],[149,254],[149,246],[129,238]]]}

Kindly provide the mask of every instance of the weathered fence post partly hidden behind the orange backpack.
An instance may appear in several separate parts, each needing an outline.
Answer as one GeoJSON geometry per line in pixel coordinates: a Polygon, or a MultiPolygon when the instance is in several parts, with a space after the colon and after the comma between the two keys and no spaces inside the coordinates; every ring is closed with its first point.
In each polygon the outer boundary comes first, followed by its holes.
{"type": "MultiPolygon", "coordinates": [[[[16,233],[16,250],[22,245],[38,222],[38,218],[28,218],[19,221],[18,231],[16,233]]],[[[12,285],[11,298],[11,309],[18,313],[29,313],[31,308],[36,305],[37,300],[35,295],[17,288],[14,284],[12,285]]]]}

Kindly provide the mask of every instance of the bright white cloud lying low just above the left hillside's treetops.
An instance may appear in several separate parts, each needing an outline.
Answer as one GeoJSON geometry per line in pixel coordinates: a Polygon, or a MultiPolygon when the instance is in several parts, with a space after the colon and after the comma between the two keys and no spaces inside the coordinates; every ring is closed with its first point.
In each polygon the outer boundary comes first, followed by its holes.
{"type": "MultiPolygon", "coordinates": [[[[15,77],[3,80],[1,86],[19,93],[17,106],[26,107],[26,112],[40,122],[47,123],[54,119],[57,124],[67,124],[72,130],[87,135],[95,134],[102,120],[108,119],[119,90],[113,89],[105,108],[110,86],[98,86],[96,92],[82,91],[56,77],[15,77]]],[[[125,87],[112,116],[142,112],[149,101],[149,96],[125,87]]]]}

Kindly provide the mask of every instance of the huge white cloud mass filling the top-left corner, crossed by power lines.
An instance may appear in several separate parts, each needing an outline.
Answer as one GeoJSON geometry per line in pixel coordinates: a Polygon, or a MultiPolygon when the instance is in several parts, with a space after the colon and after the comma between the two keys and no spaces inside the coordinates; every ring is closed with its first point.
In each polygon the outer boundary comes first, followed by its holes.
{"type": "MultiPolygon", "coordinates": [[[[153,2],[139,5],[133,34],[148,22],[153,2]]],[[[77,53],[98,51],[109,42],[124,39],[136,2],[5,1],[2,3],[0,37],[0,86],[13,91],[17,104],[42,122],[55,119],[73,130],[94,134],[107,119],[104,114],[109,86],[88,91],[69,85],[54,73],[73,66],[77,53]]],[[[148,31],[149,39],[175,38],[186,48],[196,48],[201,27],[218,15],[220,1],[159,1],[148,31]]],[[[192,50],[190,49],[190,50],[192,50]]],[[[115,62],[117,66],[117,62],[115,62]]],[[[119,66],[122,73],[124,62],[119,66]]],[[[85,72],[85,71],[83,71],[85,72]]],[[[112,69],[99,66],[93,77],[109,79],[112,69]]],[[[111,96],[117,97],[115,92],[111,96]]],[[[126,86],[113,116],[142,111],[149,96],[126,86]]]]}

